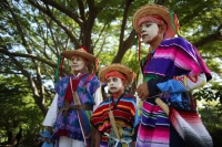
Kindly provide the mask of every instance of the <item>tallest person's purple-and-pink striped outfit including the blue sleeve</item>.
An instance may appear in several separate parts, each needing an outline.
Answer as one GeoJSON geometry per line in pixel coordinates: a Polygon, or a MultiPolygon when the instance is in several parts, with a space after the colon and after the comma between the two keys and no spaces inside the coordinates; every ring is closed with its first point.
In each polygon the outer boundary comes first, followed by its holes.
{"type": "MultiPolygon", "coordinates": [[[[160,98],[167,104],[183,111],[195,111],[194,99],[189,93],[211,80],[198,50],[183,38],[167,39],[157,48],[151,60],[147,59],[141,63],[150,96],[164,93],[160,98]]],[[[142,105],[137,147],[185,146],[183,140],[173,145],[181,136],[172,133],[169,117],[154,99],[148,97],[142,105]]]]}

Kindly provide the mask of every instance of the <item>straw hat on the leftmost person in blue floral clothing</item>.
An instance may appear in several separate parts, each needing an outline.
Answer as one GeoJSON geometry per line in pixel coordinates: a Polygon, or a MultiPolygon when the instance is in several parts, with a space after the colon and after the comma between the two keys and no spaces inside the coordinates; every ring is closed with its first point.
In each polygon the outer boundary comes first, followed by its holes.
{"type": "Polygon", "coordinates": [[[73,55],[79,55],[79,56],[85,57],[89,62],[95,63],[95,56],[88,53],[82,48],[73,50],[73,51],[63,51],[62,52],[62,56],[64,56],[68,60],[72,60],[73,55]]]}

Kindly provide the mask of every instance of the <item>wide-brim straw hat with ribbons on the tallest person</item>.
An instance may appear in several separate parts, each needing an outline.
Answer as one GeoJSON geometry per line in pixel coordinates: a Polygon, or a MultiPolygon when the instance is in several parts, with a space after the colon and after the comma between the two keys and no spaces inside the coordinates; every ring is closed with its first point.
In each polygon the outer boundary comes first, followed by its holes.
{"type": "Polygon", "coordinates": [[[164,39],[173,38],[175,35],[175,31],[179,28],[178,17],[173,14],[173,23],[174,23],[173,25],[175,27],[175,30],[174,30],[171,24],[170,11],[165,7],[159,6],[159,4],[145,4],[141,7],[139,10],[137,10],[132,20],[132,24],[135,32],[138,33],[140,32],[140,27],[138,25],[139,20],[145,15],[151,15],[151,14],[158,14],[162,17],[162,19],[165,21],[168,25],[168,30],[165,31],[164,39]]]}

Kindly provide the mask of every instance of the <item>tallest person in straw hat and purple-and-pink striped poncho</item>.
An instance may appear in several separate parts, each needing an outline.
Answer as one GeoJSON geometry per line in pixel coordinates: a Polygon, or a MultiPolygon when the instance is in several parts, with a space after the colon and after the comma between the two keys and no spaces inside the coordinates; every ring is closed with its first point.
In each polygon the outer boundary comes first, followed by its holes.
{"type": "Polygon", "coordinates": [[[191,94],[212,76],[196,48],[173,38],[179,32],[176,15],[162,6],[147,4],[134,13],[132,23],[150,45],[140,62],[144,83],[137,88],[143,104],[135,146],[212,147],[191,94]]]}

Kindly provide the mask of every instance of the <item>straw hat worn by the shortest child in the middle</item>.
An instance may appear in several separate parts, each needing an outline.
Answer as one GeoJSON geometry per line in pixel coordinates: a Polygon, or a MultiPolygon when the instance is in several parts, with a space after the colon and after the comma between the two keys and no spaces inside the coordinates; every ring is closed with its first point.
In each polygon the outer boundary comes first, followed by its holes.
{"type": "Polygon", "coordinates": [[[131,84],[135,77],[135,73],[130,67],[119,64],[119,63],[114,63],[114,64],[111,64],[111,65],[108,65],[108,66],[101,69],[101,71],[99,72],[100,81],[103,83],[107,83],[104,76],[107,73],[109,73],[111,71],[118,71],[118,72],[124,74],[127,77],[127,84],[131,84]]]}

